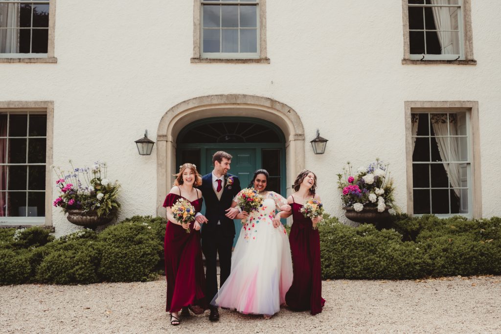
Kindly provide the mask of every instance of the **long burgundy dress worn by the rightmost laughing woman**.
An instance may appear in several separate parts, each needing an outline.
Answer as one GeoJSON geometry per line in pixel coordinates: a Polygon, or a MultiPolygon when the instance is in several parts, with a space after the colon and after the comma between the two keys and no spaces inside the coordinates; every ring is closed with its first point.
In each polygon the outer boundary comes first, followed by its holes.
{"type": "Polygon", "coordinates": [[[285,300],[295,311],[311,310],[313,315],[322,312],[322,277],[320,272],[320,236],[313,229],[310,218],[299,211],[303,205],[291,204],[293,224],[289,234],[294,278],[285,300]]]}

